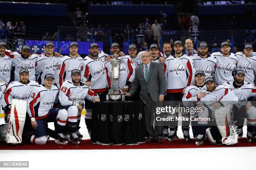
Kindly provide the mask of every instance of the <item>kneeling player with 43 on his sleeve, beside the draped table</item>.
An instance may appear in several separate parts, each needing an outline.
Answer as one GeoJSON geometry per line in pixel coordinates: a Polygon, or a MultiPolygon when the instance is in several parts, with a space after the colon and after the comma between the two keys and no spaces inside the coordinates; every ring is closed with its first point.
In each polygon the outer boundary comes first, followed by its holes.
{"type": "Polygon", "coordinates": [[[67,126],[70,140],[74,144],[79,144],[83,137],[78,129],[84,100],[87,98],[93,102],[100,102],[100,97],[80,81],[80,70],[72,70],[71,78],[72,80],[66,80],[62,84],[59,90],[59,102],[61,108],[64,108],[64,112],[68,115],[67,126]]]}

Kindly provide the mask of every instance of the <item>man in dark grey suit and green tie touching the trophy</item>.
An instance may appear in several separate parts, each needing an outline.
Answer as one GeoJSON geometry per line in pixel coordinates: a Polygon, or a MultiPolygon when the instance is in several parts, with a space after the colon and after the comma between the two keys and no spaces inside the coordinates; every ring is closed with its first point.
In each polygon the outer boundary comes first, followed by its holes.
{"type": "Polygon", "coordinates": [[[123,93],[125,96],[132,96],[137,88],[141,87],[140,98],[144,103],[146,130],[149,135],[146,142],[153,142],[155,140],[161,143],[163,127],[153,126],[154,107],[152,108],[152,105],[158,105],[159,102],[164,101],[166,80],[163,66],[157,62],[151,62],[150,53],[147,51],[141,54],[141,61],[143,65],[138,66],[135,70],[131,91],[123,93]]]}

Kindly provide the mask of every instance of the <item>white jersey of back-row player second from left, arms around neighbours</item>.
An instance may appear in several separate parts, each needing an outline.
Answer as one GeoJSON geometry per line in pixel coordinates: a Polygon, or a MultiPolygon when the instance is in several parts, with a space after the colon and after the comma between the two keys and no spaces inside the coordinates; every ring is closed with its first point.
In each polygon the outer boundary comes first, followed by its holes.
{"type": "Polygon", "coordinates": [[[14,71],[14,80],[20,81],[20,70],[25,68],[29,71],[29,80],[36,81],[36,60],[38,55],[33,54],[29,56],[27,59],[21,57],[21,54],[18,52],[11,52],[10,50],[6,50],[6,55],[9,55],[13,66],[15,66],[14,71]]]}

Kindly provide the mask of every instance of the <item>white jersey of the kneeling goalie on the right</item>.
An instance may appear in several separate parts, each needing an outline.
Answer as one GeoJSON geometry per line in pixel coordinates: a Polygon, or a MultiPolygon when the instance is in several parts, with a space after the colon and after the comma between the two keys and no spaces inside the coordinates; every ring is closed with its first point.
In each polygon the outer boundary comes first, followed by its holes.
{"type": "Polygon", "coordinates": [[[223,106],[229,104],[236,104],[238,102],[238,97],[235,93],[226,86],[217,85],[215,90],[212,92],[206,91],[205,97],[197,100],[197,104],[206,105],[210,110],[215,111],[214,104],[221,102],[223,106]]]}

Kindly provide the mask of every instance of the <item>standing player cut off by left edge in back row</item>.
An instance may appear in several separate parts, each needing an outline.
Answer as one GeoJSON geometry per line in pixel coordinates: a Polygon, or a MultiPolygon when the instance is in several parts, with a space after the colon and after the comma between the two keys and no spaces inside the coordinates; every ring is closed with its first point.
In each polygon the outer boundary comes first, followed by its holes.
{"type": "Polygon", "coordinates": [[[5,42],[0,42],[0,82],[4,82],[5,85],[8,85],[13,62],[8,55],[5,55],[6,47],[5,42]]]}

